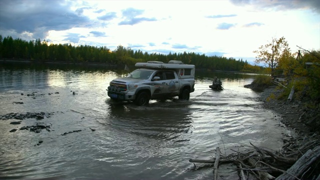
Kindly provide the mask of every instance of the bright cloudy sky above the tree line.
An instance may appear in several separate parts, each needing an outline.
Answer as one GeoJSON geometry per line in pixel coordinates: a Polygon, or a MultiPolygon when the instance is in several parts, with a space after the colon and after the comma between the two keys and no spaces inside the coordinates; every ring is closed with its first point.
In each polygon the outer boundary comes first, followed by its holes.
{"type": "Polygon", "coordinates": [[[292,52],[319,50],[320,0],[0,0],[0,34],[251,63],[282,36],[292,52]]]}

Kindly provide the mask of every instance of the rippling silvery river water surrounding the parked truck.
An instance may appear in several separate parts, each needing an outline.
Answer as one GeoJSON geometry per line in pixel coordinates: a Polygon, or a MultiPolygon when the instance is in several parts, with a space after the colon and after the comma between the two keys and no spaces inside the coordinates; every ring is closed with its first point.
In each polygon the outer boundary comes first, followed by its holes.
{"type": "MultiPolygon", "coordinates": [[[[126,73],[0,62],[0,179],[212,179],[212,167],[188,159],[210,159],[217,146],[228,153],[249,142],[282,145],[285,129],[275,114],[260,108],[259,92],[243,87],[254,74],[197,70],[189,101],[136,106],[107,96],[109,81],[126,73]],[[208,87],[214,76],[224,90],[208,87]],[[12,112],[44,118],[4,118],[12,112]],[[20,129],[36,124],[48,128],[20,129]]],[[[237,178],[231,165],[219,175],[237,178]]]]}

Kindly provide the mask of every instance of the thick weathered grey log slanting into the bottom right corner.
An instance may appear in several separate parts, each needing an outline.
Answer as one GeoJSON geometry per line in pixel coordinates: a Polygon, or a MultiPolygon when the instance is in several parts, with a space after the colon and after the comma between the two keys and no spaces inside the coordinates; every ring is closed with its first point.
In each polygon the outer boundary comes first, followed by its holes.
{"type": "Polygon", "coordinates": [[[312,150],[309,149],[303,154],[286,172],[279,175],[275,180],[280,179],[296,179],[296,177],[302,175],[312,162],[320,157],[320,146],[314,147],[312,150]],[[295,177],[296,176],[296,177],[295,177]]]}

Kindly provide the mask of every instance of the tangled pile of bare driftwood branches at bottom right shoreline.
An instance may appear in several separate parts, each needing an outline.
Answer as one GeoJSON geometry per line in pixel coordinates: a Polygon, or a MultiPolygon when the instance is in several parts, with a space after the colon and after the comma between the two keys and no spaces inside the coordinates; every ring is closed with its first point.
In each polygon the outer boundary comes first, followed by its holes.
{"type": "Polygon", "coordinates": [[[214,178],[217,179],[218,163],[233,163],[240,179],[253,174],[256,179],[320,179],[320,138],[296,144],[287,142],[281,151],[266,147],[239,146],[233,153],[223,155],[216,148],[214,159],[189,159],[189,162],[214,163],[214,178]],[[239,150],[239,149],[243,150],[239,150]]]}

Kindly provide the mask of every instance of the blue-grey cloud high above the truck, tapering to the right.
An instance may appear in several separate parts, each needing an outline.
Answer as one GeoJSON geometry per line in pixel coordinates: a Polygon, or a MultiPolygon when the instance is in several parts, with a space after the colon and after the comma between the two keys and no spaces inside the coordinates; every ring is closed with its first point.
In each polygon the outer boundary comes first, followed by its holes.
{"type": "Polygon", "coordinates": [[[122,10],[122,15],[124,17],[124,20],[119,22],[118,25],[134,25],[143,21],[155,21],[156,18],[151,17],[136,17],[138,15],[141,15],[144,12],[144,10],[141,9],[135,9],[135,8],[127,8],[122,10]]]}

